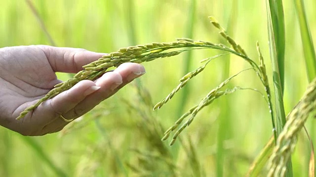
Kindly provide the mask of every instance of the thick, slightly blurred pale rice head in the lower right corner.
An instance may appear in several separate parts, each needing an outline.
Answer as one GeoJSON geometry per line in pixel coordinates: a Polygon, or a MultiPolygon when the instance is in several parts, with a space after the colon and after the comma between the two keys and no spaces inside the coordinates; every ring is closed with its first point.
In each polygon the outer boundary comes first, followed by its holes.
{"type": "Polygon", "coordinates": [[[268,176],[285,176],[286,164],[290,160],[298,133],[309,116],[315,116],[316,109],[316,79],[305,91],[299,104],[291,111],[283,131],[279,134],[276,147],[270,158],[270,171],[268,176]]]}

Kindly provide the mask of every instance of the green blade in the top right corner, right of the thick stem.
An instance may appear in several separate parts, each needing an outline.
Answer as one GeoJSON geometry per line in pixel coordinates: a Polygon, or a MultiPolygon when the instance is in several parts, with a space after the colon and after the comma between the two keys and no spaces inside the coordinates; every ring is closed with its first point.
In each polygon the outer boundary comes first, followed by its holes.
{"type": "Polygon", "coordinates": [[[303,0],[294,0],[296,14],[299,19],[301,39],[307,69],[308,81],[316,77],[316,55],[310,28],[307,23],[306,12],[303,0]]]}

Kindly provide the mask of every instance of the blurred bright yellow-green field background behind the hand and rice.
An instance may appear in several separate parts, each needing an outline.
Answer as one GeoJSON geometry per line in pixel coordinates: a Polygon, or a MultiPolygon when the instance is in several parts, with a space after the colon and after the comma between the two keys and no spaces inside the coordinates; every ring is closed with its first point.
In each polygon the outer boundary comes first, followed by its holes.
{"type": "MultiPolygon", "coordinates": [[[[168,42],[176,37],[186,37],[188,20],[192,18],[189,16],[192,14],[188,13],[191,0],[31,2],[57,46],[96,52],[113,52],[135,42],[168,42]]],[[[308,79],[299,24],[293,20],[296,19],[295,6],[292,1],[283,3],[287,40],[284,106],[287,114],[302,96],[308,79]]],[[[51,45],[38,17],[26,1],[0,0],[0,4],[0,47],[51,45]]],[[[271,76],[265,1],[242,0],[234,4],[236,8],[232,8],[232,5],[232,0],[197,0],[193,38],[221,42],[217,30],[207,19],[209,15],[216,17],[225,28],[226,24],[234,23],[230,35],[253,59],[257,58],[256,41],[260,42],[267,73],[271,76]],[[238,14],[238,18],[233,18],[234,22],[230,22],[232,9],[238,14]]],[[[305,6],[313,35],[316,33],[316,21],[312,18],[316,16],[313,9],[316,1],[305,0],[305,6]]],[[[200,59],[216,54],[214,50],[193,51],[189,69],[199,66],[200,59]]],[[[216,176],[217,138],[221,136],[218,135],[219,120],[223,119],[220,115],[226,115],[229,116],[225,118],[229,121],[229,139],[222,138],[223,146],[219,151],[225,153],[220,154],[223,157],[223,176],[244,176],[272,135],[269,109],[260,94],[239,91],[228,95],[225,100],[219,99],[197,116],[181,134],[181,141],[174,146],[169,147],[168,142],[159,141],[163,131],[178,118],[181,97],[180,94],[175,95],[163,108],[152,112],[149,95],[155,104],[178,84],[184,70],[181,67],[186,62],[185,55],[144,63],[147,74],[140,79],[142,88],[126,86],[60,133],[31,139],[56,168],[71,177],[216,176]],[[220,114],[222,110],[229,114],[220,114]]],[[[184,110],[198,103],[203,95],[223,81],[225,63],[224,58],[212,61],[207,70],[188,84],[190,93],[185,105],[182,105],[184,110]]],[[[242,59],[231,56],[230,75],[248,67],[242,59]]],[[[62,80],[69,77],[61,73],[58,76],[62,80]]],[[[233,85],[264,89],[255,74],[248,73],[240,74],[233,85]]],[[[307,127],[311,128],[313,122],[312,119],[308,120],[307,127]]],[[[225,122],[220,124],[225,125],[225,122]]],[[[223,132],[223,128],[220,132],[223,132]]],[[[310,132],[313,132],[311,137],[315,142],[315,131],[310,132]]],[[[309,143],[303,135],[301,133],[299,136],[292,156],[294,176],[308,174],[309,143]]],[[[39,151],[21,138],[21,135],[0,127],[0,176],[56,176],[51,166],[44,163],[39,151]]]]}

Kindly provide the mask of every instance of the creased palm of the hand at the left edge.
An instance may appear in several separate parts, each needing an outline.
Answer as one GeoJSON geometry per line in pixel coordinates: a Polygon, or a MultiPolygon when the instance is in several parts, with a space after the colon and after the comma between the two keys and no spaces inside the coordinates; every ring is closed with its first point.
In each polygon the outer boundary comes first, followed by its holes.
{"type": "Polygon", "coordinates": [[[0,103],[0,107],[14,113],[12,117],[18,115],[15,109],[39,99],[60,82],[40,48],[14,47],[2,56],[0,95],[6,96],[1,100],[3,105],[0,103]]]}

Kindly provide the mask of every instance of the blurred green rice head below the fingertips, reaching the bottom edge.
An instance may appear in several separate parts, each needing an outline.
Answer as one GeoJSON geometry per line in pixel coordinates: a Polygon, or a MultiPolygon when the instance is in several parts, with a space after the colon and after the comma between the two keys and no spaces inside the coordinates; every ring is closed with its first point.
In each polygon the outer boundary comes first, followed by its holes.
{"type": "Polygon", "coordinates": [[[135,86],[138,93],[136,99],[133,99],[133,102],[124,100],[124,103],[127,104],[128,110],[133,111],[133,115],[137,115],[135,124],[142,139],[145,140],[147,150],[139,148],[140,145],[132,149],[137,154],[138,164],[137,166],[135,162],[133,164],[126,162],[125,164],[137,176],[142,176],[148,172],[176,176],[178,168],[172,159],[172,153],[165,143],[160,141],[160,136],[163,134],[162,125],[153,115],[151,95],[142,85],[136,84],[135,86]]]}

